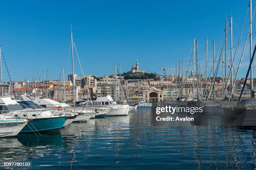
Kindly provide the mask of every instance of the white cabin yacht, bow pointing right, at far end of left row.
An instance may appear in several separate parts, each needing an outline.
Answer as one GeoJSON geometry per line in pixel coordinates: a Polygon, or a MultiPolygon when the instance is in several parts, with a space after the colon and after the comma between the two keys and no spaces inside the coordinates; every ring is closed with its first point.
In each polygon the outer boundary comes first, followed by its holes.
{"type": "Polygon", "coordinates": [[[106,114],[106,116],[127,116],[129,112],[129,105],[128,104],[115,104],[113,102],[111,96],[105,97],[97,97],[94,102],[94,106],[96,107],[103,107],[109,106],[110,111],[106,114]]]}

